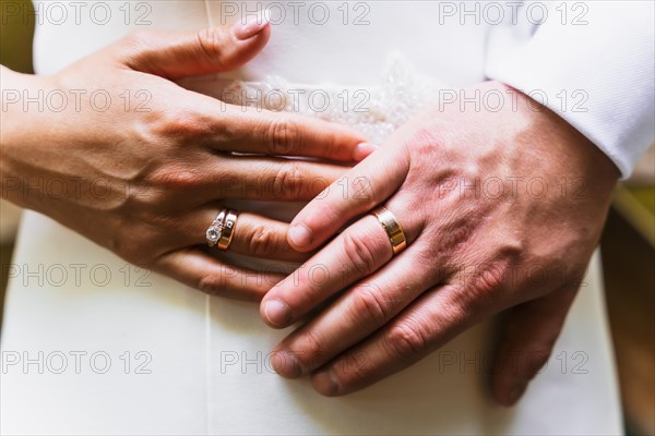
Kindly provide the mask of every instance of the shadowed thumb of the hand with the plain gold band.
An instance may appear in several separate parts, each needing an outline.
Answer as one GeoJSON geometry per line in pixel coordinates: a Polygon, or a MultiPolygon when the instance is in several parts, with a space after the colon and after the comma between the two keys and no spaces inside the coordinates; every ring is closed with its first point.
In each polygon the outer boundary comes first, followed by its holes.
{"type": "Polygon", "coordinates": [[[519,401],[548,361],[576,293],[577,286],[565,286],[510,310],[491,375],[499,403],[519,401]]]}

